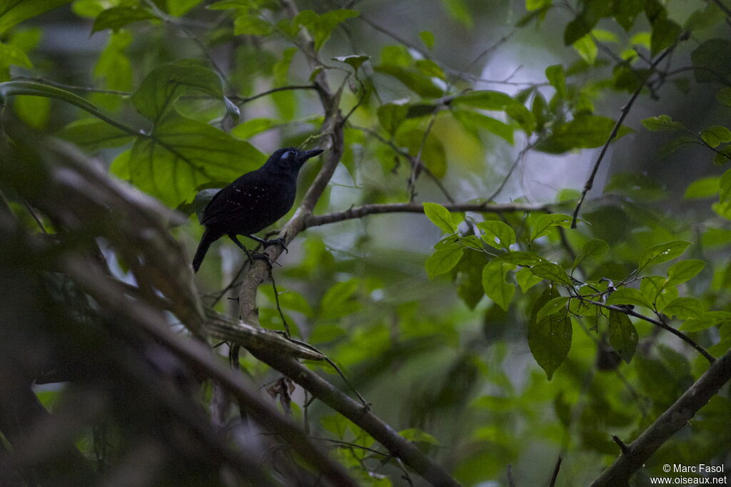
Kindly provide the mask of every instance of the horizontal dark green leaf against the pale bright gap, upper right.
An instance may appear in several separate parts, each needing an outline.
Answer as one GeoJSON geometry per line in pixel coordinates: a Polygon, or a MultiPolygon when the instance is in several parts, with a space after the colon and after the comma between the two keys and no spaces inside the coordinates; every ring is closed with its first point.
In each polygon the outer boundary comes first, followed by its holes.
{"type": "MultiPolygon", "coordinates": [[[[553,133],[539,142],[535,149],[550,154],[560,154],[572,149],[591,149],[605,145],[614,128],[615,121],[600,115],[579,115],[574,120],[562,123],[553,133]]],[[[621,126],[612,142],[632,133],[628,126],[621,126]]]]}

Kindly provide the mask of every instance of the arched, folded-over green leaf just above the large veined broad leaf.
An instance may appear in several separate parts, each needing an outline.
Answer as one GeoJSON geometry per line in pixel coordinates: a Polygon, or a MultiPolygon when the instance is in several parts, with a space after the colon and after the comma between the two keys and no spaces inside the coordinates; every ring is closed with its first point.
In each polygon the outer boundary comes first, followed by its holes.
{"type": "Polygon", "coordinates": [[[178,61],[163,64],[145,77],[140,88],[132,95],[132,104],[140,115],[157,122],[173,110],[173,104],[183,94],[205,94],[223,99],[223,88],[218,74],[204,66],[178,61]]]}

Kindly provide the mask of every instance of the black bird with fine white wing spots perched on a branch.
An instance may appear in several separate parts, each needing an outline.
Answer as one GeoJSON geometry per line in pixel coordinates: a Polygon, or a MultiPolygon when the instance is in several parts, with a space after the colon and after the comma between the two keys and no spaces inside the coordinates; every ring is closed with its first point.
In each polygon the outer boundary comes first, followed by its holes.
{"type": "Polygon", "coordinates": [[[203,210],[200,224],[205,226],[205,231],[193,258],[194,271],[198,272],[211,244],[224,235],[247,255],[249,251],[238,241],[237,235],[249,237],[265,247],[279,244],[284,248],[282,239],[264,240],[253,234],[270,226],[292,208],[300,167],[319,153],[322,149],[279,149],[259,169],[247,172],[216,193],[203,210]]]}

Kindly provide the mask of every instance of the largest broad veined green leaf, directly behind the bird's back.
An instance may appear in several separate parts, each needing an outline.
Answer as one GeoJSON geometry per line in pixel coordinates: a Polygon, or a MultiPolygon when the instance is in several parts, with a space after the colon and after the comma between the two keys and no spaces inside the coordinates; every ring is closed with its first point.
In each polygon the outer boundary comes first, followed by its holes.
{"type": "Polygon", "coordinates": [[[129,174],[142,191],[176,207],[211,181],[232,181],[261,166],[265,156],[208,123],[168,115],[132,147],[129,174]]]}

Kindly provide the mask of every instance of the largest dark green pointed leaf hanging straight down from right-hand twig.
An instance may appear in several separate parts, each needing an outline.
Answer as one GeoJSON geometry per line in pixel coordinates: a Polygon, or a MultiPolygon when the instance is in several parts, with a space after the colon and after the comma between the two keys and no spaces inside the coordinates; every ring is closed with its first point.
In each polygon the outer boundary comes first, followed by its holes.
{"type": "Polygon", "coordinates": [[[551,299],[558,297],[558,291],[549,287],[533,304],[528,321],[528,345],[533,358],[545,371],[548,380],[564,361],[571,348],[572,327],[568,317],[545,316],[538,320],[538,311],[551,299]]]}

